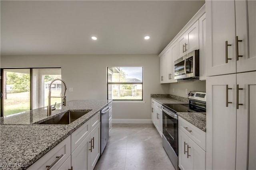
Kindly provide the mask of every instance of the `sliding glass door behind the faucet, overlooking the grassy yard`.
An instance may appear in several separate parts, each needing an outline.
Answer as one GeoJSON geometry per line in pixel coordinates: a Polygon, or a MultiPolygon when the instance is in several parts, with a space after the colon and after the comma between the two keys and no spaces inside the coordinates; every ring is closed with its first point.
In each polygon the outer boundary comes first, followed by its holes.
{"type": "MultiPolygon", "coordinates": [[[[1,116],[48,106],[48,90],[52,80],[61,78],[61,68],[1,69],[1,116]]],[[[52,96],[60,96],[62,84],[54,81],[52,96]]],[[[61,98],[52,98],[52,104],[61,98]]]]}

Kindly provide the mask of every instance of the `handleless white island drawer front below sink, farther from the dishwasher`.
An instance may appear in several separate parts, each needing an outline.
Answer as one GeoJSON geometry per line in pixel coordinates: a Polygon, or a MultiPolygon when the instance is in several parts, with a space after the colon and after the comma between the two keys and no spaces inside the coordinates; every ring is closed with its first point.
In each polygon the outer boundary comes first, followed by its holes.
{"type": "Polygon", "coordinates": [[[71,153],[90,133],[90,121],[86,121],[81,127],[71,134],[71,153]]]}

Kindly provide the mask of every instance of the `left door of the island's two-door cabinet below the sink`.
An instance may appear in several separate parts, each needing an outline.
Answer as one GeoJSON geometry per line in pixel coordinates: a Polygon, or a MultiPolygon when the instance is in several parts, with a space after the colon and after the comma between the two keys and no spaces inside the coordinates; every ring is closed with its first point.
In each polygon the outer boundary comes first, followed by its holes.
{"type": "Polygon", "coordinates": [[[90,164],[90,135],[88,135],[82,143],[71,154],[71,166],[73,170],[88,169],[90,164]]]}

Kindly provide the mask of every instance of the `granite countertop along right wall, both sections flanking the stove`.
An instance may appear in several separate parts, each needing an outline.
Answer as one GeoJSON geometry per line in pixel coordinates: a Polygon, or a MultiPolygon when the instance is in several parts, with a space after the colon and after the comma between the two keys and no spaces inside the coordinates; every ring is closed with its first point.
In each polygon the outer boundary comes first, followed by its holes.
{"type": "MultiPolygon", "coordinates": [[[[188,99],[174,95],[151,95],[160,104],[188,104],[188,99]]],[[[206,132],[205,112],[177,112],[177,115],[206,132]]]]}

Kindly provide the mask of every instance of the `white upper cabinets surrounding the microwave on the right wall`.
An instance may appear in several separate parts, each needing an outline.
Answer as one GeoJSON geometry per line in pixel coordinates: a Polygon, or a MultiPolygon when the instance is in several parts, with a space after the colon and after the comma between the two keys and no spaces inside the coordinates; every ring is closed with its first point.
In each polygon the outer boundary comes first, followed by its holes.
{"type": "Polygon", "coordinates": [[[206,16],[205,6],[188,21],[184,28],[159,54],[160,83],[177,83],[174,80],[174,61],[180,57],[199,49],[200,53],[200,80],[206,80],[205,44],[206,44],[206,16]]]}

